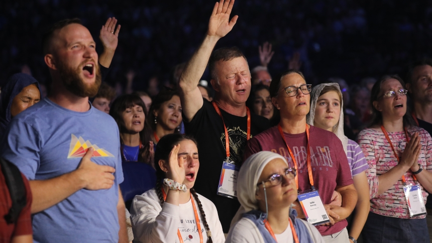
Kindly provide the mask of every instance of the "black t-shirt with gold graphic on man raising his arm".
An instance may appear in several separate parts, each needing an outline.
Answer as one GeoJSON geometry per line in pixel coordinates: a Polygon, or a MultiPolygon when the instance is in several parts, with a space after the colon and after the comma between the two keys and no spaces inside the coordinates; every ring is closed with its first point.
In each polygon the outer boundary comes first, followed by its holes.
{"type": "MultiPolygon", "coordinates": [[[[243,151],[247,142],[247,115],[232,115],[220,109],[230,136],[230,158],[238,163],[243,162],[243,151]]],[[[217,195],[222,164],[227,158],[225,151],[225,130],[221,116],[211,102],[204,99],[204,104],[187,123],[184,119],[186,134],[198,142],[199,170],[196,177],[196,192],[208,198],[218,209],[224,232],[228,233],[231,220],[240,207],[236,199],[217,195]]],[[[251,113],[251,135],[255,136],[270,127],[269,120],[251,113]]],[[[208,220],[208,219],[207,219],[208,220]]]]}

